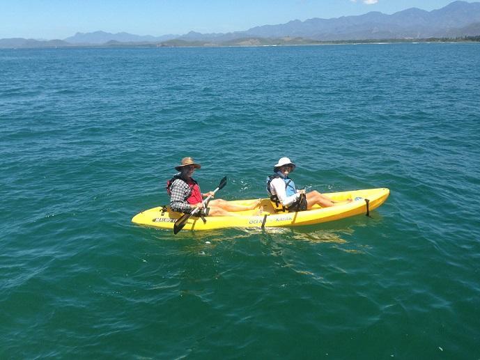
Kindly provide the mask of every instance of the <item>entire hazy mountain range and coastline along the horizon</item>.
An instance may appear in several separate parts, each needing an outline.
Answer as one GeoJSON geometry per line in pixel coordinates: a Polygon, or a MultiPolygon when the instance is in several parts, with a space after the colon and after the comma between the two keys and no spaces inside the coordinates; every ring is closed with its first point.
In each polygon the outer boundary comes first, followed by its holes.
{"type": "MultiPolygon", "coordinates": [[[[332,19],[293,20],[286,24],[256,26],[232,33],[139,36],[130,33],[76,33],[63,40],[0,39],[0,47],[66,47],[106,45],[250,45],[252,40],[280,43],[339,40],[393,40],[480,36],[480,2],[454,1],[444,8],[426,11],[409,8],[392,15],[370,12],[332,19]],[[263,39],[258,40],[258,39],[263,39]],[[286,39],[286,40],[285,40],[286,39]],[[237,41],[238,40],[238,41],[237,41]],[[282,42],[283,41],[283,42],[282,42]]],[[[255,42],[255,41],[254,41],[255,42]]]]}

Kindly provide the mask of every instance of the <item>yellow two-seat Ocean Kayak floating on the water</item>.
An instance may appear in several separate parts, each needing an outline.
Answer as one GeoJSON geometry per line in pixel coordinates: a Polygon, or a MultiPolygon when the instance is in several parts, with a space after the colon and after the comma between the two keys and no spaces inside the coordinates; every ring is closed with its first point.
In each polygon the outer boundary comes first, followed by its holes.
{"type": "MultiPolygon", "coordinates": [[[[268,228],[282,226],[302,226],[319,224],[327,221],[335,221],[353,217],[360,214],[368,214],[378,208],[387,200],[390,191],[382,187],[378,189],[365,189],[353,191],[341,191],[327,194],[326,196],[337,201],[330,208],[320,208],[315,205],[311,210],[300,212],[286,212],[277,208],[269,198],[262,199],[258,209],[235,212],[236,216],[229,217],[200,217],[192,216],[188,219],[183,230],[211,230],[217,228],[268,228]],[[352,201],[348,201],[351,199],[352,201]]],[[[231,201],[234,204],[253,205],[258,199],[231,201]]],[[[132,219],[134,224],[153,226],[173,230],[173,224],[183,214],[173,212],[169,208],[152,208],[140,212],[132,219]]]]}

